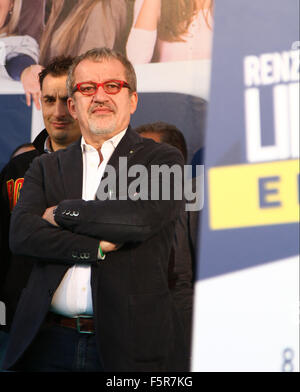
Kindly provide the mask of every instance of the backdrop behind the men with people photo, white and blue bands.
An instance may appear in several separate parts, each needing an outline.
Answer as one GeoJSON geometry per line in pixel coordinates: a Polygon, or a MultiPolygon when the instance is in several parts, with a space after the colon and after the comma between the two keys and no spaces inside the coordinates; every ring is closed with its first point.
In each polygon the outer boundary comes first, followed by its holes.
{"type": "Polygon", "coordinates": [[[141,74],[141,98],[154,107],[145,116],[141,105],[133,125],[174,124],[187,139],[188,161],[199,163],[213,5],[213,0],[0,0],[0,115],[7,132],[0,135],[0,170],[15,148],[43,129],[39,73],[57,56],[75,57],[95,47],[121,52],[141,74]]]}

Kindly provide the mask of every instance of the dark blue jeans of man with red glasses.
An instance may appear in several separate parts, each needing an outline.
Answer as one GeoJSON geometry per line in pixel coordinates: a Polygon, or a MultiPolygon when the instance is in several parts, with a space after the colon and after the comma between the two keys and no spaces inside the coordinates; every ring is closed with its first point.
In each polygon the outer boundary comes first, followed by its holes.
{"type": "Polygon", "coordinates": [[[94,334],[82,334],[71,328],[45,324],[18,362],[16,370],[103,372],[103,365],[94,334]]]}

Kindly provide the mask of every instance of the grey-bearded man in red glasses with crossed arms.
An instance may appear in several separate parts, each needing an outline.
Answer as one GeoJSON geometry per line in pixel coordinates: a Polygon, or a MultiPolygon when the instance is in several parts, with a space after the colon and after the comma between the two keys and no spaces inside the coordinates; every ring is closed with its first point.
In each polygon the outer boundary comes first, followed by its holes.
{"type": "Polygon", "coordinates": [[[88,51],[75,59],[67,87],[82,138],[33,162],[13,211],[11,248],[36,263],[3,367],[187,370],[188,348],[167,285],[182,201],[172,189],[170,200],[151,200],[150,189],[145,200],[124,197],[118,186],[110,199],[97,199],[107,163],[118,182],[120,157],[128,170],[144,165],[149,176],[152,165],[182,167],[183,158],[130,128],[136,76],[122,55],[88,51]]]}

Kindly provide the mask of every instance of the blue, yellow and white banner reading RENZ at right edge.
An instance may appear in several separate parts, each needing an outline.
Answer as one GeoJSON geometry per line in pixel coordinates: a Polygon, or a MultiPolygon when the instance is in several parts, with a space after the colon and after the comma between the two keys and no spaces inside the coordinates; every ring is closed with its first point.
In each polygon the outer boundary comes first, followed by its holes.
{"type": "Polygon", "coordinates": [[[299,2],[216,3],[193,371],[299,370],[299,2]]]}

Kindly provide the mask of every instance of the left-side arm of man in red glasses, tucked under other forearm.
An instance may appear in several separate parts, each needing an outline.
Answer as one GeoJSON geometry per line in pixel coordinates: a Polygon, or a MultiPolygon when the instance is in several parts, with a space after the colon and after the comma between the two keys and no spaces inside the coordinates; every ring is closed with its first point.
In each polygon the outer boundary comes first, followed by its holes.
{"type": "MultiPolygon", "coordinates": [[[[47,200],[39,160],[32,163],[25,178],[11,217],[9,240],[12,252],[63,264],[97,261],[99,237],[73,233],[49,224],[43,218],[51,201],[47,200]],[[88,255],[88,258],[81,259],[80,255],[88,255]]],[[[106,252],[117,249],[113,244],[109,247],[103,245],[106,252]]]]}

